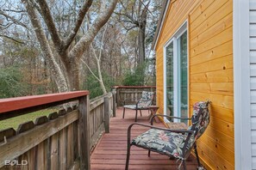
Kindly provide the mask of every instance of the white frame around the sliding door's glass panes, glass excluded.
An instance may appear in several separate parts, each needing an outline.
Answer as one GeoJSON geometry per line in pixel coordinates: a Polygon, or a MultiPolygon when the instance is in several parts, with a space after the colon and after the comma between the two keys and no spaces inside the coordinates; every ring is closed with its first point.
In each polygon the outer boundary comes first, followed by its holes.
{"type": "MultiPolygon", "coordinates": [[[[180,112],[180,108],[178,106],[178,38],[180,38],[183,33],[187,31],[187,45],[189,44],[189,36],[188,36],[188,21],[184,21],[181,27],[178,28],[178,31],[174,33],[171,37],[171,39],[168,39],[168,41],[164,45],[164,114],[166,115],[167,112],[167,94],[166,94],[166,47],[169,46],[173,42],[173,116],[178,117],[178,112],[180,112]]],[[[187,46],[187,55],[189,52],[188,49],[189,46],[187,46]]],[[[187,59],[189,61],[189,58],[187,56],[187,59]]],[[[189,62],[187,62],[189,64],[189,62]]],[[[189,66],[189,65],[188,65],[189,66]]],[[[189,69],[188,69],[189,73],[189,69]]],[[[187,74],[189,76],[189,74],[187,74]]],[[[189,77],[188,77],[189,78],[189,77]]],[[[189,80],[189,79],[188,79],[189,80]]],[[[188,81],[189,83],[189,81],[188,81]]],[[[189,87],[189,86],[188,86],[189,87]]],[[[189,98],[188,98],[189,99],[189,98]]],[[[165,122],[170,122],[167,118],[164,118],[165,122]]],[[[174,122],[178,122],[179,119],[174,119],[174,122]]]]}

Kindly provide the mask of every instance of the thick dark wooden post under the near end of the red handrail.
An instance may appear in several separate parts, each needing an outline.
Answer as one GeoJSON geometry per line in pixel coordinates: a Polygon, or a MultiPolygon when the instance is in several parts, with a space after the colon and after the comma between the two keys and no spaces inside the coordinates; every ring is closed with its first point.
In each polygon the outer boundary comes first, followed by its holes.
{"type": "Polygon", "coordinates": [[[80,169],[91,169],[90,162],[90,99],[89,95],[79,99],[79,145],[80,169]]]}

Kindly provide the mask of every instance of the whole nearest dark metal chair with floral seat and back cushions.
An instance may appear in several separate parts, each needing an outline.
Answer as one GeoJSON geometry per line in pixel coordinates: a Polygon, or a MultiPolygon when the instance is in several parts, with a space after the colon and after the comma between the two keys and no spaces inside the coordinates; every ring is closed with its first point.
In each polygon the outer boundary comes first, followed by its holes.
{"type": "MultiPolygon", "coordinates": [[[[147,124],[130,124],[128,127],[128,149],[127,149],[127,160],[125,169],[128,170],[130,148],[131,146],[137,146],[148,150],[148,156],[150,152],[157,152],[162,155],[167,155],[170,158],[176,158],[181,161],[178,169],[183,165],[186,169],[186,159],[190,155],[191,149],[195,149],[197,156],[198,168],[201,167],[199,157],[197,154],[197,139],[203,135],[209,124],[209,101],[197,102],[194,105],[192,118],[179,118],[179,119],[190,119],[191,125],[187,130],[174,130],[165,129],[153,126],[153,118],[151,121],[152,125],[147,124]],[[145,126],[151,128],[150,130],[142,133],[140,136],[135,137],[131,141],[131,129],[134,125],[145,126]]],[[[166,115],[156,114],[155,116],[171,117],[166,115]]]]}

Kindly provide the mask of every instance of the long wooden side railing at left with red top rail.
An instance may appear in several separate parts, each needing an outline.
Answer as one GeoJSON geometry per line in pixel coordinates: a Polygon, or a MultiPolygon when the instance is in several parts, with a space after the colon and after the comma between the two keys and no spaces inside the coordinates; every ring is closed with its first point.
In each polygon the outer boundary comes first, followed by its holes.
{"type": "Polygon", "coordinates": [[[0,131],[0,169],[90,169],[91,148],[109,132],[112,100],[106,94],[90,103],[88,91],[0,100],[0,120],[77,103],[0,131]]]}

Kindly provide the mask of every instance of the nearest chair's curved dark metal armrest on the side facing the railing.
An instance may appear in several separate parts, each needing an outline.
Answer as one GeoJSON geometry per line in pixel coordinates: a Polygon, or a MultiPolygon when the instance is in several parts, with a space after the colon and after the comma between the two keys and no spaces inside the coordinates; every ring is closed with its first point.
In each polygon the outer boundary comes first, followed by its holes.
{"type": "Polygon", "coordinates": [[[184,134],[184,133],[189,133],[189,134],[194,133],[194,131],[191,131],[191,130],[172,130],[172,129],[160,128],[160,127],[156,127],[156,126],[148,125],[148,124],[134,123],[134,124],[130,124],[129,127],[128,127],[128,143],[130,143],[131,129],[134,125],[144,126],[144,127],[148,127],[148,128],[152,128],[152,129],[162,130],[162,131],[171,131],[171,132],[174,132],[174,133],[182,133],[182,134],[184,134]]]}

